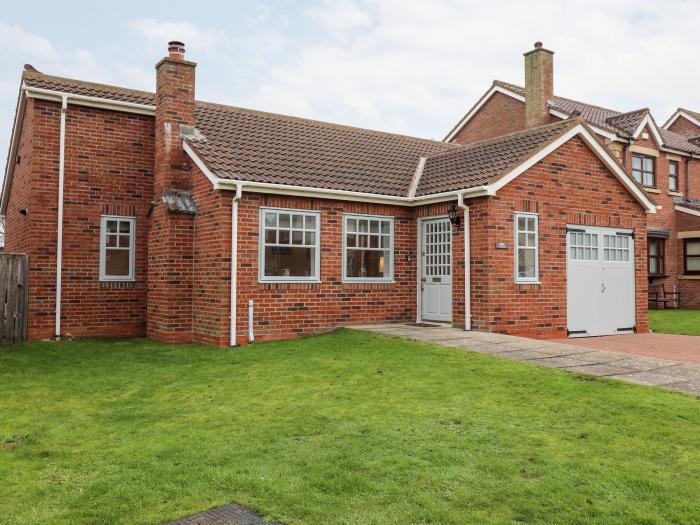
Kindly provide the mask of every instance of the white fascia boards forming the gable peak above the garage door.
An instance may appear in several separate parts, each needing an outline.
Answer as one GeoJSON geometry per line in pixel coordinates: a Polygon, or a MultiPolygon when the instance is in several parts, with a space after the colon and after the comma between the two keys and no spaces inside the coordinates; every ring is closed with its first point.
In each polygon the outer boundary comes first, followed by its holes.
{"type": "Polygon", "coordinates": [[[588,144],[588,146],[593,150],[596,156],[603,161],[603,163],[610,169],[610,171],[617,177],[617,179],[622,183],[625,188],[639,201],[647,213],[656,213],[656,205],[649,200],[644,191],[639,188],[630,177],[625,173],[625,170],[617,163],[617,161],[611,156],[611,154],[601,146],[600,142],[590,134],[590,132],[582,125],[578,124],[571,128],[569,131],[560,136],[557,140],[549,144],[547,147],[538,151],[535,155],[527,159],[522,164],[515,167],[513,170],[508,172],[506,175],[498,179],[496,182],[490,186],[493,191],[498,191],[503,186],[513,181],[516,177],[521,175],[523,172],[537,164],[547,155],[558,149],[560,146],[571,140],[576,135],[580,135],[581,138],[588,144]]]}

